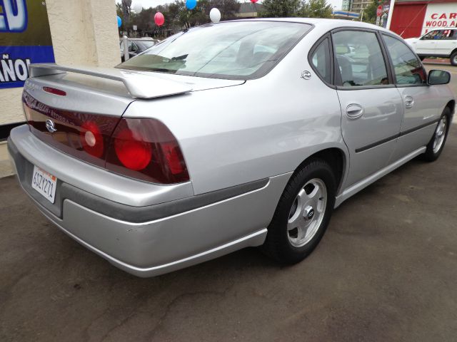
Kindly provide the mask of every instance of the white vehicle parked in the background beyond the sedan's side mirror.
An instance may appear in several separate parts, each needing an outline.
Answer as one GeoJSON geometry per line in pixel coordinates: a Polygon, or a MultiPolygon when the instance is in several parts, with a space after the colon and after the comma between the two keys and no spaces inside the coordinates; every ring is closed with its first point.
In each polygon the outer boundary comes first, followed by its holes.
{"type": "Polygon", "coordinates": [[[450,58],[457,66],[457,28],[430,31],[419,38],[405,39],[423,60],[426,57],[450,58]]]}

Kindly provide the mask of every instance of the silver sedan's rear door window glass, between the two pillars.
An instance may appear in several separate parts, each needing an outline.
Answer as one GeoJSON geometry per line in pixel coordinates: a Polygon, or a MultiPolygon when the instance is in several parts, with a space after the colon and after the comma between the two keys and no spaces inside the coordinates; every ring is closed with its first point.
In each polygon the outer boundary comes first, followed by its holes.
{"type": "Polygon", "coordinates": [[[342,86],[388,84],[386,63],[376,33],[338,31],[332,38],[342,86]]]}

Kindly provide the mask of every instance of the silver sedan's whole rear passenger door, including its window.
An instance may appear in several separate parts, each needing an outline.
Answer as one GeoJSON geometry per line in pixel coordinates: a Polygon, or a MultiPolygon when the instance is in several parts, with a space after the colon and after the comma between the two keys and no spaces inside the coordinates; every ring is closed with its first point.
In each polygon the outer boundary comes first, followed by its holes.
{"type": "Polygon", "coordinates": [[[332,32],[341,130],[350,153],[345,187],[387,165],[401,126],[402,100],[376,31],[332,32]]]}

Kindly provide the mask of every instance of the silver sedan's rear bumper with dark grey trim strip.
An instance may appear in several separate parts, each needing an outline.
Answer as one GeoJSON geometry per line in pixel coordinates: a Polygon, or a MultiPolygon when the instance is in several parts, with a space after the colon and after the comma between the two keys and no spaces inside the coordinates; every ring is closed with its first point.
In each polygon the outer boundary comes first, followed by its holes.
{"type": "MultiPolygon", "coordinates": [[[[70,237],[137,276],[164,274],[262,244],[266,227],[291,176],[279,175],[203,197],[191,196],[143,207],[113,201],[116,188],[111,189],[113,194],[106,199],[59,180],[56,204],[51,204],[31,189],[34,161],[24,157],[25,152],[21,151],[24,141],[36,138],[31,133],[20,133],[11,131],[9,152],[21,186],[40,211],[70,237]]],[[[52,160],[59,159],[62,153],[45,144],[40,148],[48,158],[38,160],[39,167],[54,170],[52,160]]],[[[78,161],[69,157],[69,162],[78,161]]]]}

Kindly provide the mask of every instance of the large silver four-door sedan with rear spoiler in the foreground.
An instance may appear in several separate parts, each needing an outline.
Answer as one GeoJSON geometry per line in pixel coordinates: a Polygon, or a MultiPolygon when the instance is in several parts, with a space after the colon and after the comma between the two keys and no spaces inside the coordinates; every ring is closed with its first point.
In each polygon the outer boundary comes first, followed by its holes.
{"type": "Polygon", "coordinates": [[[402,38],[333,19],[226,21],[117,68],[30,73],[8,141],[21,186],[138,276],[248,246],[301,261],[334,207],[436,160],[456,106],[450,73],[427,75],[402,38]]]}

